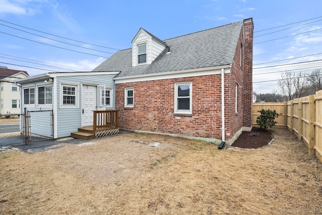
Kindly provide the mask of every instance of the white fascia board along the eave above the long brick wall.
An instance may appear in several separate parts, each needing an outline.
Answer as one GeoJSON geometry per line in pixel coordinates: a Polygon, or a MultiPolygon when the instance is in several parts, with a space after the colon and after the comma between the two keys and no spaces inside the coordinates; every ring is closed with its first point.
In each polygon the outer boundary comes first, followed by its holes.
{"type": "Polygon", "coordinates": [[[224,69],[224,73],[230,73],[230,65],[224,65],[224,66],[206,67],[206,68],[199,68],[199,69],[188,69],[188,70],[181,70],[181,71],[137,75],[137,76],[131,76],[131,77],[115,77],[113,79],[115,80],[115,83],[129,83],[129,82],[163,80],[163,79],[172,79],[172,78],[185,78],[185,77],[220,74],[221,69],[224,69]]]}

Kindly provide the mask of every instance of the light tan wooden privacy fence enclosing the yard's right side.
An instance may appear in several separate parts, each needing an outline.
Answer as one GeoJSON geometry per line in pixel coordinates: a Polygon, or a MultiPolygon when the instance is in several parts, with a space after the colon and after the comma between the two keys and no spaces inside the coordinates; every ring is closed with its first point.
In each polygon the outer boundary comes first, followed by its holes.
{"type": "Polygon", "coordinates": [[[282,114],[277,118],[277,127],[285,127],[308,148],[308,154],[316,155],[322,162],[322,90],[288,102],[254,103],[253,125],[262,109],[275,110],[282,114]]]}

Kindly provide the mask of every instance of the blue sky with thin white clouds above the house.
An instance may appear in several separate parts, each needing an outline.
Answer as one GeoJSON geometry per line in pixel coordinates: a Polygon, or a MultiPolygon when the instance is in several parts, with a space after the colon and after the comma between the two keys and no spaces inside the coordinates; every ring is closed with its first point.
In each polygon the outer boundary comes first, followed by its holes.
{"type": "Polygon", "coordinates": [[[320,0],[0,0],[0,66],[30,75],[90,71],[116,49],[130,48],[141,27],[165,40],[252,17],[253,89],[271,93],[278,85],[270,80],[279,79],[282,71],[322,68],[321,9],[320,0]]]}

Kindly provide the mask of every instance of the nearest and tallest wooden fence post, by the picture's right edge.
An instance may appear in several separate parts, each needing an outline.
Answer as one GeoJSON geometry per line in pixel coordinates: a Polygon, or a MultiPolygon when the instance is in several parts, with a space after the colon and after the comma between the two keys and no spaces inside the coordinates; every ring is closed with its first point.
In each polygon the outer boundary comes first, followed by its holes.
{"type": "Polygon", "coordinates": [[[308,155],[313,156],[314,153],[314,139],[315,139],[315,130],[314,130],[314,121],[315,121],[315,104],[314,104],[314,95],[308,96],[308,155]]]}

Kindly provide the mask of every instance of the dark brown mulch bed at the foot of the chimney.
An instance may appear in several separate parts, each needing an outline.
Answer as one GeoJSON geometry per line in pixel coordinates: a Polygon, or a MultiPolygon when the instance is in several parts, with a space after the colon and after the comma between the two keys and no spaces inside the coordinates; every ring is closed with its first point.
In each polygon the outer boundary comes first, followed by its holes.
{"type": "Polygon", "coordinates": [[[253,128],[251,132],[243,132],[231,146],[246,149],[257,149],[268,145],[273,139],[269,130],[253,128]]]}

